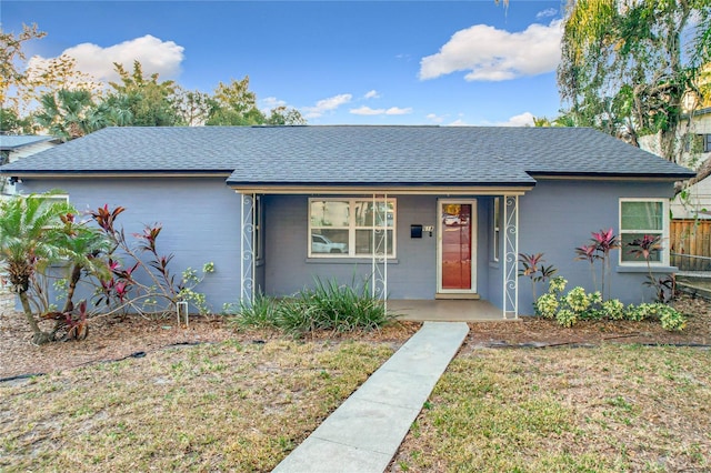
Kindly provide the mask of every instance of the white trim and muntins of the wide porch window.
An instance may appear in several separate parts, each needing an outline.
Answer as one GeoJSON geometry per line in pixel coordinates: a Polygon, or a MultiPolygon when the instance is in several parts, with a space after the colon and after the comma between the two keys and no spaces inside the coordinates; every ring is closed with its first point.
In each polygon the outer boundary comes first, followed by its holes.
{"type": "MultiPolygon", "coordinates": [[[[378,202],[382,202],[383,199],[375,199],[378,202]]],[[[308,228],[309,232],[307,234],[307,258],[309,259],[348,259],[350,260],[371,260],[373,254],[368,253],[356,253],[356,232],[358,230],[371,230],[377,227],[363,227],[356,224],[356,212],[353,211],[353,207],[356,202],[373,202],[372,198],[368,197],[321,197],[321,198],[309,198],[308,209],[307,209],[307,219],[308,219],[308,228]],[[348,215],[348,227],[338,225],[338,227],[329,227],[329,229],[333,230],[347,230],[348,231],[348,253],[314,253],[311,251],[311,235],[313,229],[322,229],[323,227],[312,227],[311,225],[311,203],[312,202],[348,202],[349,215],[348,215]]],[[[392,231],[392,252],[387,255],[387,259],[395,260],[398,258],[398,200],[395,198],[387,198],[385,202],[392,203],[392,227],[388,227],[388,231],[392,231]]]]}

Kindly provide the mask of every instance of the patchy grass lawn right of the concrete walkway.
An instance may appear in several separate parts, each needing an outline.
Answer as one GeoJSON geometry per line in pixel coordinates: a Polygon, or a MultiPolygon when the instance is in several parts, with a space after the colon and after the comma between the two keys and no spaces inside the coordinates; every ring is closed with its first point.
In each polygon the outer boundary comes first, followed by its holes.
{"type": "Polygon", "coordinates": [[[440,379],[392,471],[711,471],[711,352],[471,350],[440,379]]]}

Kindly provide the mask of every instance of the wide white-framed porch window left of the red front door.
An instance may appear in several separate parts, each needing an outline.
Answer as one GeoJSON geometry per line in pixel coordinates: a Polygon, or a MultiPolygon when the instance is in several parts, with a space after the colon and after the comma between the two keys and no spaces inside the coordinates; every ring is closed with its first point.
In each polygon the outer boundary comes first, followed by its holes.
{"type": "Polygon", "coordinates": [[[309,199],[309,256],[395,256],[394,199],[309,199]]]}

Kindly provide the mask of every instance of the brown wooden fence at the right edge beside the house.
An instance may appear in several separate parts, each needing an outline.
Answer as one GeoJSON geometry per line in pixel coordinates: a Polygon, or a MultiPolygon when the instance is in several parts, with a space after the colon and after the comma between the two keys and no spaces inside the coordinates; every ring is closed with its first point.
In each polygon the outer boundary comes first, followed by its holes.
{"type": "Polygon", "coordinates": [[[711,271],[711,221],[672,220],[671,264],[680,271],[711,271]]]}

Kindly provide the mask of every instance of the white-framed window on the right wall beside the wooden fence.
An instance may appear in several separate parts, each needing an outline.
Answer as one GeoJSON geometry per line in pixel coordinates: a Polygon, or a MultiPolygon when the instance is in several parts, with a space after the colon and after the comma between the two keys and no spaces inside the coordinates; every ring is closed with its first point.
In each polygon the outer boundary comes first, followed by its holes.
{"type": "Polygon", "coordinates": [[[658,249],[652,249],[651,264],[669,264],[669,202],[665,199],[620,199],[620,263],[647,264],[635,250],[640,244],[658,238],[658,249]]]}

